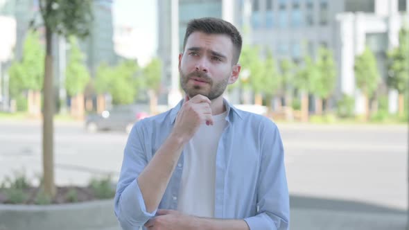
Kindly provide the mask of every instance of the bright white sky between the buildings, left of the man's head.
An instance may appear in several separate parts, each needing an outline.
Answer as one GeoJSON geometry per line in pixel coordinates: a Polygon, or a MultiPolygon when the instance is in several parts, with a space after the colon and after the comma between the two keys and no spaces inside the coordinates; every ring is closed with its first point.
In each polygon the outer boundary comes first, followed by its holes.
{"type": "Polygon", "coordinates": [[[157,51],[157,1],[114,0],[114,24],[134,28],[130,50],[139,64],[146,64],[157,51]]]}

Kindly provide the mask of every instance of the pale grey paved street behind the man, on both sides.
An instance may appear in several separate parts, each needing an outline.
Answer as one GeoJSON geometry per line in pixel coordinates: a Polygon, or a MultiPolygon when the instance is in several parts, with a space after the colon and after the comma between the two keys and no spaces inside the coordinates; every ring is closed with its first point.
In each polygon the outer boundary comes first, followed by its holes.
{"type": "MultiPolygon", "coordinates": [[[[291,229],[405,229],[406,125],[278,125],[286,149],[291,229]]],[[[87,134],[80,123],[58,123],[58,184],[117,175],[126,139],[121,132],[87,134]]],[[[0,120],[0,178],[22,168],[34,177],[41,172],[40,152],[40,123],[0,120]]]]}

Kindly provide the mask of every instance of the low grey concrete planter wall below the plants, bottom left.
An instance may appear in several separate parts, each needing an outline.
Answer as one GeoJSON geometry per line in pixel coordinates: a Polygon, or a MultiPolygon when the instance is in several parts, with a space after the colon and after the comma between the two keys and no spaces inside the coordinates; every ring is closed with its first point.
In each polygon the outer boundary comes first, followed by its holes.
{"type": "Polygon", "coordinates": [[[76,204],[0,205],[0,230],[96,230],[120,229],[114,201],[76,204]]]}

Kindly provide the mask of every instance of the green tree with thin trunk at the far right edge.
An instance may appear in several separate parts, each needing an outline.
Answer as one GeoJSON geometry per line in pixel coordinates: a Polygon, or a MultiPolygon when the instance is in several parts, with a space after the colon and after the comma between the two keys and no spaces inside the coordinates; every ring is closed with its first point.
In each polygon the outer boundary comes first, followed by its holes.
{"type": "Polygon", "coordinates": [[[399,93],[399,115],[403,115],[403,95],[408,92],[409,85],[409,28],[399,31],[399,46],[388,52],[387,84],[399,93]]]}

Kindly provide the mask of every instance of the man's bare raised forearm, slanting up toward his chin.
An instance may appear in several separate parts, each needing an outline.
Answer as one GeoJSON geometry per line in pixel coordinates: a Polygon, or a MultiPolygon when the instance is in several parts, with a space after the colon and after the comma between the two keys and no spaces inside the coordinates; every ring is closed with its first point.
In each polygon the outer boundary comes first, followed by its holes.
{"type": "Polygon", "coordinates": [[[183,146],[182,139],[173,134],[169,135],[137,178],[146,211],[153,212],[157,209],[173,170],[175,170],[183,146]]]}

